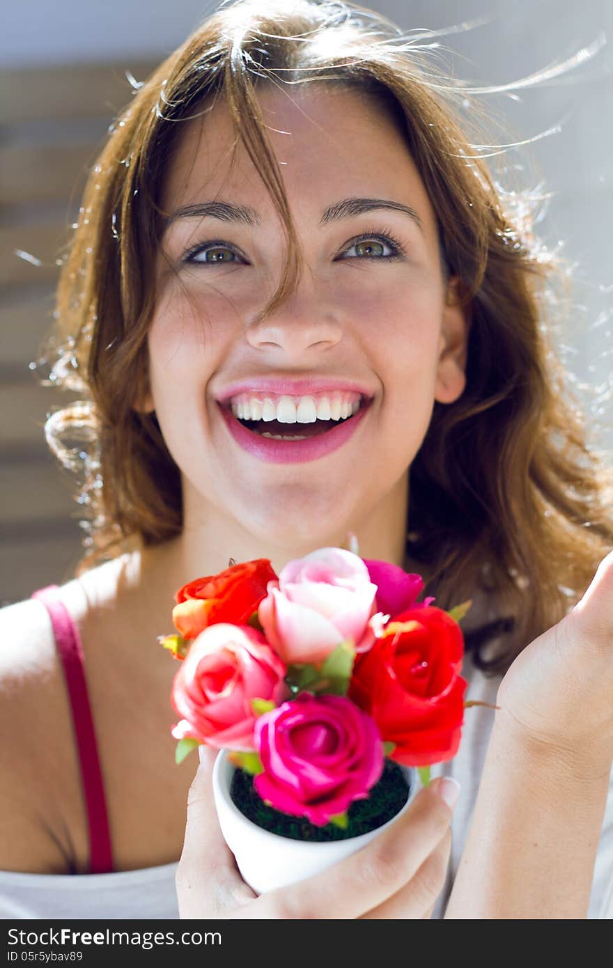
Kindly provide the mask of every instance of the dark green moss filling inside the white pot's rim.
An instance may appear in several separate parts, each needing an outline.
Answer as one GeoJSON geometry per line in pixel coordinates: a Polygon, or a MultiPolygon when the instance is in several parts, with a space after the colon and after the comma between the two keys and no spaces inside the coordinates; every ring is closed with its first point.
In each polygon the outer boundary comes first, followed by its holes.
{"type": "Polygon", "coordinates": [[[345,840],[373,831],[395,817],[408,796],[409,784],[405,774],[397,763],[386,759],[381,779],[366,800],[352,802],[348,810],[349,827],[342,830],[334,824],[316,827],[306,817],[290,817],[266,806],[256,792],[253,776],[243,770],[234,771],[230,784],[230,798],[241,813],[264,831],[291,840],[345,840]]]}

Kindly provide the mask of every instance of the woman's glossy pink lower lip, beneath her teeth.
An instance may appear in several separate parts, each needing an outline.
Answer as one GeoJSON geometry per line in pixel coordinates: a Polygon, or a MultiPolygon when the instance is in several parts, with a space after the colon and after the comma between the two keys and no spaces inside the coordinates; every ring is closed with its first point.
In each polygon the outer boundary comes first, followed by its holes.
{"type": "MultiPolygon", "coordinates": [[[[268,464],[305,464],[307,461],[317,461],[318,458],[331,453],[349,440],[366,415],[370,405],[362,404],[357,413],[349,420],[338,424],[332,430],[328,430],[318,437],[304,440],[273,440],[261,437],[243,427],[233,416],[230,408],[221,405],[219,405],[219,408],[231,436],[243,450],[268,464]]],[[[292,424],[291,426],[297,428],[300,425],[292,424]]]]}

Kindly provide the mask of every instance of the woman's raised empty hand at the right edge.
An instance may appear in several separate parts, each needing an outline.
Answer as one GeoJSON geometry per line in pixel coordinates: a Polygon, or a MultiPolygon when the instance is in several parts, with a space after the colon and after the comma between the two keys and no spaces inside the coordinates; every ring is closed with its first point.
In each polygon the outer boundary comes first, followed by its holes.
{"type": "Polygon", "coordinates": [[[613,760],[613,552],[567,616],[517,656],[497,698],[511,730],[587,774],[613,760]]]}

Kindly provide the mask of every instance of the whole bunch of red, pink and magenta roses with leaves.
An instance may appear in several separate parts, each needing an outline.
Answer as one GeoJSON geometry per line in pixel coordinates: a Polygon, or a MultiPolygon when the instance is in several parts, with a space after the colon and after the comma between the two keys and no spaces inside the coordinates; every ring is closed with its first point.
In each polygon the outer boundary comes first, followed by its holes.
{"type": "Polygon", "coordinates": [[[177,762],[202,743],[228,750],[262,806],[341,830],[386,762],[427,784],[430,766],[455,755],[472,705],[459,626],[472,603],[417,602],[423,584],[322,548],[279,575],[266,559],[230,559],[178,590],[178,634],[159,640],[181,661],[177,762]]]}

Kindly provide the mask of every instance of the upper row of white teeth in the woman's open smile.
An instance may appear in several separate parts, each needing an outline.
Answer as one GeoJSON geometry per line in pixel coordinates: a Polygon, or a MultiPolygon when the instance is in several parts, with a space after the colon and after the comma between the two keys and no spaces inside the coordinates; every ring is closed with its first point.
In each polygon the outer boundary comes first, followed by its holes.
{"type": "Polygon", "coordinates": [[[230,402],[234,416],[239,420],[263,420],[269,423],[315,423],[316,420],[347,419],[360,407],[360,398],[355,393],[334,393],[328,396],[291,397],[254,397],[240,394],[230,402]]]}

